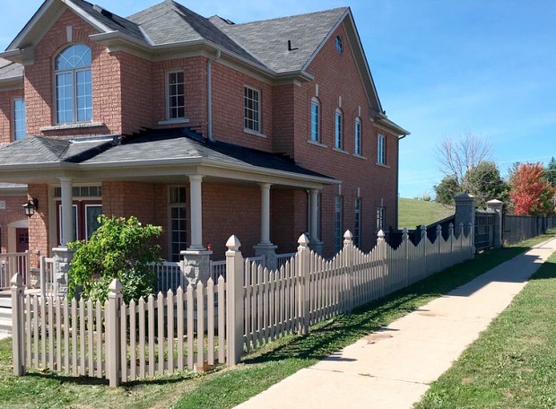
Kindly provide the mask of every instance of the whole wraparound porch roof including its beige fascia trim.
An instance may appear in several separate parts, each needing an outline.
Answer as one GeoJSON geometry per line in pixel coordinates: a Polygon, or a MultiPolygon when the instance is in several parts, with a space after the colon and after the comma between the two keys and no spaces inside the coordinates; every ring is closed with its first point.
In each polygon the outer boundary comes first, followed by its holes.
{"type": "Polygon", "coordinates": [[[84,140],[30,136],[0,147],[0,182],[57,183],[61,177],[162,182],[188,175],[302,188],[341,183],[283,155],[209,142],[187,128],[84,140]]]}

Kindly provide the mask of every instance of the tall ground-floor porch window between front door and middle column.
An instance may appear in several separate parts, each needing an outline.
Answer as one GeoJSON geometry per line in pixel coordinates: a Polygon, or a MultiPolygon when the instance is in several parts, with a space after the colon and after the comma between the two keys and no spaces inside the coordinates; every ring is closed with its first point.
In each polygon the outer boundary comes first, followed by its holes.
{"type": "Polygon", "coordinates": [[[187,202],[185,187],[169,187],[169,261],[179,261],[187,248],[187,202]]]}

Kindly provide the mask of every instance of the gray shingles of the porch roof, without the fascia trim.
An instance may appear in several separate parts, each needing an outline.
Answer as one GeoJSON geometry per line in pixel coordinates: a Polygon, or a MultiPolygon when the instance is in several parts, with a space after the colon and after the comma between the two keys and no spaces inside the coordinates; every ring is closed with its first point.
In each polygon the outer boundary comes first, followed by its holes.
{"type": "MultiPolygon", "coordinates": [[[[295,164],[280,154],[257,151],[235,144],[208,142],[187,128],[147,131],[126,136],[117,144],[114,137],[91,141],[31,136],[0,147],[0,170],[4,166],[76,163],[81,165],[124,164],[149,161],[209,160],[231,167],[253,167],[328,178],[295,164]]],[[[160,164],[160,163],[159,163],[160,164]]],[[[332,180],[332,178],[330,178],[332,180]]]]}

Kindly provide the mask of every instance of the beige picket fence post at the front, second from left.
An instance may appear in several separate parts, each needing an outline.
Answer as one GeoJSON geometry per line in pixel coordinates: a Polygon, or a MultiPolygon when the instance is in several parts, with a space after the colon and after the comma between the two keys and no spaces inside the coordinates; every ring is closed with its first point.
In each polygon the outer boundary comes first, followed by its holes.
{"type": "MultiPolygon", "coordinates": [[[[107,375],[110,387],[118,387],[120,384],[120,318],[119,309],[122,304],[122,283],[115,278],[109,285],[109,307],[106,311],[106,322],[108,332],[107,344],[107,375]]],[[[82,328],[83,330],[83,328],[82,328]]],[[[125,341],[124,341],[125,342],[125,341]]],[[[82,365],[84,362],[82,362],[82,365]]],[[[153,362],[151,363],[153,365],[153,362]]]]}

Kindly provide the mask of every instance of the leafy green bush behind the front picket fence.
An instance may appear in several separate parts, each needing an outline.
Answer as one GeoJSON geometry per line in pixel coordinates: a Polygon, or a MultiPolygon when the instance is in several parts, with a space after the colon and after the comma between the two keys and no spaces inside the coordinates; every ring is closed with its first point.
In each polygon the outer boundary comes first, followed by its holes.
{"type": "Polygon", "coordinates": [[[70,297],[76,290],[85,300],[108,299],[114,278],[122,283],[124,300],[138,300],[152,293],[156,274],[152,265],[161,261],[160,247],[154,239],[160,226],[143,226],[136,217],[99,216],[100,227],[88,242],[74,241],[74,259],[68,272],[70,297]]]}

